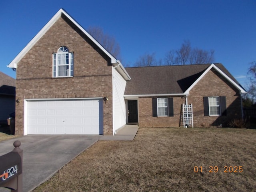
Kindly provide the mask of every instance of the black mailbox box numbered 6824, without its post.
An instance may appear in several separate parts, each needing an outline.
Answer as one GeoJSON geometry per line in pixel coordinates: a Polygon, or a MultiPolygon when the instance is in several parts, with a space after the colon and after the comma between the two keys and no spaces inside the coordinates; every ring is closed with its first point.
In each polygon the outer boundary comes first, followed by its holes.
{"type": "Polygon", "coordinates": [[[0,186],[20,174],[22,174],[22,162],[17,152],[0,156],[0,186]]]}

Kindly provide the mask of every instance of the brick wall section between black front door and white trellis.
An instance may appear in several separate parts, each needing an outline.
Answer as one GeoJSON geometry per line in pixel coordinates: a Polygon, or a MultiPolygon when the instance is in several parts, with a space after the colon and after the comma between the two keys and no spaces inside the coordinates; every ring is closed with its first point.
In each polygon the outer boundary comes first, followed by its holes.
{"type": "Polygon", "coordinates": [[[180,125],[180,112],[185,99],[173,97],[173,117],[153,117],[152,97],[139,98],[139,126],[141,127],[178,127],[180,125]]]}

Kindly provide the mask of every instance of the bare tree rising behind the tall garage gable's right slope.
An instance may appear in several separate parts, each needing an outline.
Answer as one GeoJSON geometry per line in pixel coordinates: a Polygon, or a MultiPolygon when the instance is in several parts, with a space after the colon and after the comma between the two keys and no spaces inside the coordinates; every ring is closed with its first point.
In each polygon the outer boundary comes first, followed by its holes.
{"type": "Polygon", "coordinates": [[[102,28],[97,26],[90,26],[88,28],[88,33],[93,36],[110,54],[112,54],[115,58],[120,60],[120,46],[116,42],[115,38],[104,34],[102,28]]]}

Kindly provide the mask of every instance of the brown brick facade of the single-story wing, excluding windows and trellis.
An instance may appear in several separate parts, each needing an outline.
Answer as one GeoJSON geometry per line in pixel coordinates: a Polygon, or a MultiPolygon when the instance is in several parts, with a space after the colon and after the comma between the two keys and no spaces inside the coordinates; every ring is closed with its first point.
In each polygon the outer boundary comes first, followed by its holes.
{"type": "MultiPolygon", "coordinates": [[[[174,117],[153,117],[152,98],[139,98],[139,125],[142,127],[183,126],[182,104],[185,98],[174,97],[174,117]]],[[[210,70],[189,92],[188,104],[193,105],[194,127],[227,126],[233,118],[241,118],[239,91],[214,69],[210,70]],[[227,116],[204,116],[204,96],[226,96],[227,116]]]]}

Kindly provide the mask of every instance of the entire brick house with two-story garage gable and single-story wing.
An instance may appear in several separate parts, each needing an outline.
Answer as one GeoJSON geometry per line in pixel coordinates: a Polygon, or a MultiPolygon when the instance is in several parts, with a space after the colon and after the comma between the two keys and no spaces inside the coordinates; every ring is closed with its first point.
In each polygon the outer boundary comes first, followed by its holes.
{"type": "Polygon", "coordinates": [[[245,90],[222,64],[125,69],[62,9],[8,67],[16,68],[20,135],[112,135],[127,123],[190,126],[188,103],[194,126],[242,116],[245,90]]]}

